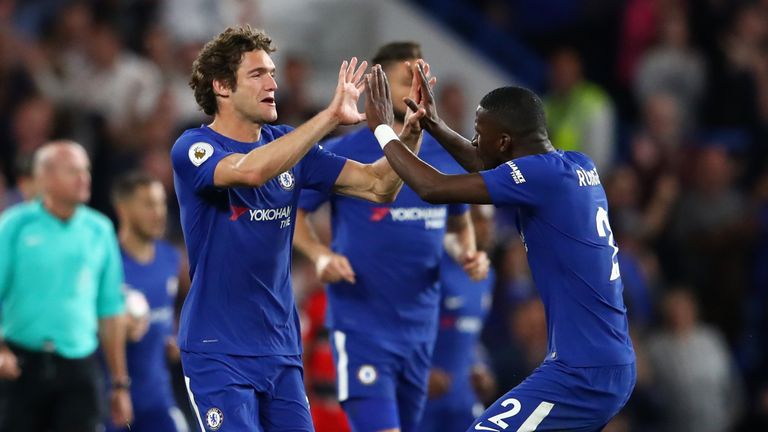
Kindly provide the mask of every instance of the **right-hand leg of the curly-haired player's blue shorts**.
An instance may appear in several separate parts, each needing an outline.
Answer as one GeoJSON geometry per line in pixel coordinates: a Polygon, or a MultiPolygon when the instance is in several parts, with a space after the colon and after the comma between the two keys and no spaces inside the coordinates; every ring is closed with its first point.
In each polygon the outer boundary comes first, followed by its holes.
{"type": "Polygon", "coordinates": [[[300,365],[278,365],[271,391],[259,395],[259,419],[265,431],[314,432],[300,365]]]}

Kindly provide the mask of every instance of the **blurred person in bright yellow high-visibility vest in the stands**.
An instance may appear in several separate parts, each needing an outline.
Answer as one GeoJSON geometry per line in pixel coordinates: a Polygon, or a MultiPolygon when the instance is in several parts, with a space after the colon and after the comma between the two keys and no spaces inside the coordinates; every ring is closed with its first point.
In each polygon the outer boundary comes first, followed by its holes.
{"type": "Polygon", "coordinates": [[[616,140],[613,105],[603,89],[585,80],[576,51],[561,48],[552,55],[544,108],[556,148],[586,153],[598,171],[610,170],[616,140]]]}

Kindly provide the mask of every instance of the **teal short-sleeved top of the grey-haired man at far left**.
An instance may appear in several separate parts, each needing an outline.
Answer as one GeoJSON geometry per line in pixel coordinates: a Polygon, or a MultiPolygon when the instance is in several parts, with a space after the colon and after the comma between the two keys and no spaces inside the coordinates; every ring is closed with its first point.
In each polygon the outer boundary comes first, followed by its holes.
{"type": "Polygon", "coordinates": [[[79,206],[69,220],[41,201],[0,215],[0,328],[24,348],[83,358],[98,319],[123,312],[123,269],[112,222],[79,206]]]}

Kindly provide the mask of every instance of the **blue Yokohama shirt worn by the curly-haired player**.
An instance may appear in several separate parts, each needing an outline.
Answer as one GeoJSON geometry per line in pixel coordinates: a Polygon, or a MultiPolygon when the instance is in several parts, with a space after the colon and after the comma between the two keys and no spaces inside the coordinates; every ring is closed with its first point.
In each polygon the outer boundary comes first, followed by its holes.
{"type": "Polygon", "coordinates": [[[184,302],[179,346],[233,355],[301,353],[291,292],[291,242],[302,188],[328,191],[346,160],[319,146],[258,188],[217,188],[216,164],[290,132],[265,125],[245,143],[207,126],[173,145],[174,184],[189,252],[192,286],[184,302]]]}

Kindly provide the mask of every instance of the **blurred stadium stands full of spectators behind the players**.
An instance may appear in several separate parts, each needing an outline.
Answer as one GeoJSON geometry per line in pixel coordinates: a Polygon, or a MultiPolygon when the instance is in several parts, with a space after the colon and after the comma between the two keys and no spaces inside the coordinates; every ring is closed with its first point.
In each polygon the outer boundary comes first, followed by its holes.
{"type": "MultiPolygon", "coordinates": [[[[0,210],[30,190],[35,149],[62,137],[91,154],[96,209],[113,215],[110,183],[136,168],[173,197],[170,146],[206,121],[191,62],[237,23],[276,41],[281,123],[325,103],[340,59],[390,40],[422,43],[440,113],[465,135],[486,91],[539,92],[554,144],[595,156],[621,247],[639,373],[609,429],[768,430],[768,1],[0,0],[0,210]]],[[[546,352],[510,220],[496,215],[483,332],[500,393],[546,352]]],[[[321,290],[300,256],[294,281],[308,387],[332,407],[321,290]]]]}

